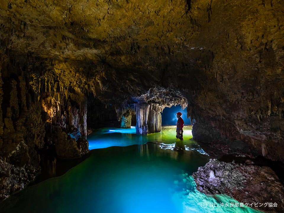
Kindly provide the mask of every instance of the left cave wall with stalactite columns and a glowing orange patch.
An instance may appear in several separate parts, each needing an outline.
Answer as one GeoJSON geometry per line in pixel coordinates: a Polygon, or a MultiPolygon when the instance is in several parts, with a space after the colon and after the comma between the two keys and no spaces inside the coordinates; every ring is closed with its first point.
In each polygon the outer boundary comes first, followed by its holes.
{"type": "Polygon", "coordinates": [[[1,50],[0,65],[2,200],[40,173],[41,150],[55,149],[63,158],[78,157],[88,152],[88,141],[84,96],[64,96],[44,60],[1,50]]]}

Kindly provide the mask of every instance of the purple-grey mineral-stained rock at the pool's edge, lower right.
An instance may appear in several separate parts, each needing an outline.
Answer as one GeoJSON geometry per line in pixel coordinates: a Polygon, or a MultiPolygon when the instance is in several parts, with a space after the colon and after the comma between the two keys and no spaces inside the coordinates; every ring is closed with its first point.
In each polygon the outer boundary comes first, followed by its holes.
{"type": "Polygon", "coordinates": [[[210,159],[193,173],[198,191],[208,194],[226,194],[243,203],[271,203],[277,207],[262,205],[267,212],[284,211],[284,186],[270,167],[241,165],[210,159]]]}

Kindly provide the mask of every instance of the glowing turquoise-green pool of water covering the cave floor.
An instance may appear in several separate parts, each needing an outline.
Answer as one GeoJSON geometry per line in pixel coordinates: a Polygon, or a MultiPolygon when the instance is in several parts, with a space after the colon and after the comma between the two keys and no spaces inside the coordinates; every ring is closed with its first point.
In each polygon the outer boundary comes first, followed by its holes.
{"type": "Polygon", "coordinates": [[[257,212],[249,207],[221,207],[221,202],[237,202],[222,195],[216,200],[196,191],[190,175],[206,164],[209,156],[189,139],[190,131],[185,131],[184,144],[175,139],[172,128],[142,139],[119,131],[96,131],[91,146],[116,146],[91,150],[90,157],[66,174],[26,187],[2,202],[0,212],[257,212]],[[133,143],[153,143],[131,145],[131,138],[133,143]],[[172,150],[183,145],[185,151],[172,150]],[[219,205],[212,207],[212,203],[219,205]]]}

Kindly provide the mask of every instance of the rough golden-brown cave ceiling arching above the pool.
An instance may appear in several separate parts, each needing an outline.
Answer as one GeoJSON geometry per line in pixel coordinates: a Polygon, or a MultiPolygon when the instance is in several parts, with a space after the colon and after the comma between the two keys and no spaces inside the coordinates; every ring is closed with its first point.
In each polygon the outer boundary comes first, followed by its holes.
{"type": "MultiPolygon", "coordinates": [[[[275,0],[2,0],[0,63],[51,93],[115,103],[172,88],[200,112],[259,119],[282,110],[283,9],[275,0]]],[[[13,72],[2,67],[2,78],[13,72]]]]}

